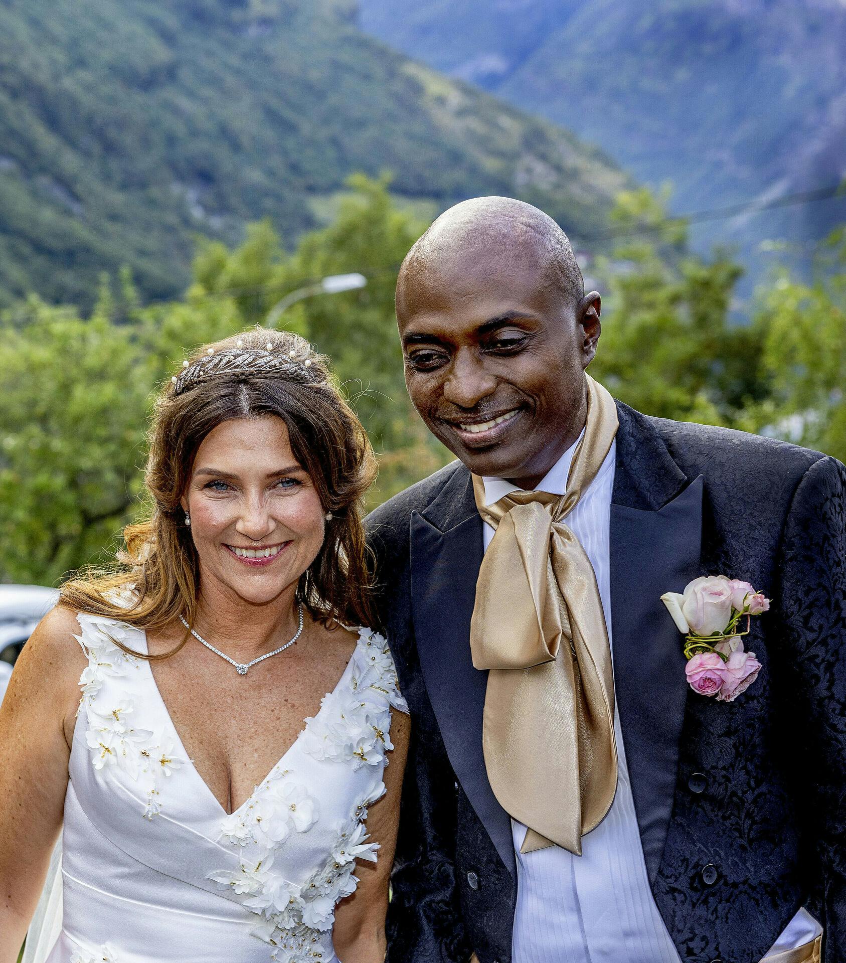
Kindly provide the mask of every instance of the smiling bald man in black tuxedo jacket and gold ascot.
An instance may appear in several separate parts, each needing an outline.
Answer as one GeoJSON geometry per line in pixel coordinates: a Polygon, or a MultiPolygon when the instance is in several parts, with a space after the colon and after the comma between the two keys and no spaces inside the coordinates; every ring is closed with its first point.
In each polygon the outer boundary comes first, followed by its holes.
{"type": "Polygon", "coordinates": [[[388,961],[843,963],[846,469],[615,403],[600,307],[508,198],[399,274],[409,394],[459,460],[369,520],[414,719],[388,961]],[[701,575],[772,599],[733,701],[688,687],[660,600],[701,575]]]}

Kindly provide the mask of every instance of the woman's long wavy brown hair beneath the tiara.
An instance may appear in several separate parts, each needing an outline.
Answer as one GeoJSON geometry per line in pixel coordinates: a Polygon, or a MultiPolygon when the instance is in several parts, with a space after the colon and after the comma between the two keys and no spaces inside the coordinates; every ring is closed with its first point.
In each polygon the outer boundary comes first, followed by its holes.
{"type": "MultiPolygon", "coordinates": [[[[61,604],[150,631],[179,615],[192,625],[199,562],[180,503],[194,457],[206,435],[223,422],[272,415],[285,423],[296,460],[308,472],[323,508],[333,515],[320,552],[299,578],[295,598],[324,625],[373,624],[362,517],[364,494],[375,479],[375,459],[365,429],[332,382],[326,360],[298,335],[256,326],[195,351],[188,367],[209,349],[265,351],[268,346],[309,361],[303,368],[308,377],[227,373],[199,379],[179,394],[172,380],[162,388],[148,434],[144,484],[149,517],[126,526],[125,547],[111,567],[90,568],[67,581],[61,604]]],[[[188,638],[186,632],[171,651],[148,658],[167,658],[188,638]]]]}

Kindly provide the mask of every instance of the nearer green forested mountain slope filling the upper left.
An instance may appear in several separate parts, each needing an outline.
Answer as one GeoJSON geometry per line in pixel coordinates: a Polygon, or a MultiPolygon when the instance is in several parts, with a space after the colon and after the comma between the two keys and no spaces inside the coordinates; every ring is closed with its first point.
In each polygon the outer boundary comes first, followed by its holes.
{"type": "Polygon", "coordinates": [[[598,149],[355,17],[346,0],[4,0],[0,304],[90,305],[124,264],[169,297],[197,234],[231,245],[268,217],[290,245],[356,170],[392,171],[430,211],[510,194],[577,238],[602,228],[628,178],[598,149]]]}

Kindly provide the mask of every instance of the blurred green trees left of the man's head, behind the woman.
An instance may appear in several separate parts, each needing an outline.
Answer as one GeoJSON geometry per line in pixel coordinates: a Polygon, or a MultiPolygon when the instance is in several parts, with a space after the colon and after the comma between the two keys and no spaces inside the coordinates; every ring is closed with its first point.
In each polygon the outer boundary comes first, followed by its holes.
{"type": "Polygon", "coordinates": [[[203,243],[182,301],[140,307],[123,273],[101,283],[90,318],[36,298],[0,317],[0,581],[52,584],[105,560],[141,510],[156,386],[186,351],[263,323],[285,293],[326,274],[376,267],[363,290],[304,300],[281,324],[331,357],[369,430],[372,505],[446,463],[405,393],[394,318],[397,267],[426,223],[397,208],[384,178],[349,186],[337,219],[292,254],[267,221],[235,249],[203,243]]]}

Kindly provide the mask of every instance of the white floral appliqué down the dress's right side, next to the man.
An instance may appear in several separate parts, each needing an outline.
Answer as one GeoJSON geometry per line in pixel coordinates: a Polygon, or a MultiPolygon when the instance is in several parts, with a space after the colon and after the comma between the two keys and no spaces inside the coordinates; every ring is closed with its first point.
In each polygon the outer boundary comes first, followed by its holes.
{"type": "MultiPolygon", "coordinates": [[[[315,963],[322,958],[321,934],[335,922],[335,906],[355,891],[358,859],[376,861],[377,843],[365,829],[368,807],[385,793],[382,770],[390,738],[392,706],[407,712],[386,640],[361,630],[346,686],[327,692],[320,713],[305,720],[298,741],[319,762],[372,769],[370,788],[356,800],[344,822],[332,827],[334,844],[323,864],[303,885],[277,870],[278,856],[292,833],[307,833],[320,820],[318,801],[295,771],[273,769],[241,809],[221,822],[220,836],[243,847],[240,870],[210,873],[231,887],[259,917],[255,936],[274,950],[277,963],[315,963]]],[[[284,757],[283,757],[284,759],[284,757]]]]}

